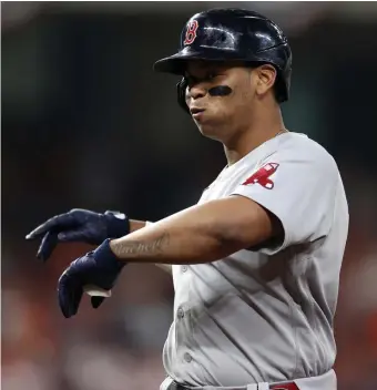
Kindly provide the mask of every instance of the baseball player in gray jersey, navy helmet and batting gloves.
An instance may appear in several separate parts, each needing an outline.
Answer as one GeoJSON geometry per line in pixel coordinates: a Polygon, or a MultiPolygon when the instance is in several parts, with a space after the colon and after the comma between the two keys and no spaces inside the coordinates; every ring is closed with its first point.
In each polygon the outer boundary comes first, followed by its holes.
{"type": "Polygon", "coordinates": [[[336,389],[348,206],[334,158],[284,126],[291,65],[287,39],[267,18],[240,9],[193,16],[180,51],[154,69],[183,76],[179,103],[222,142],[226,167],[197,205],[157,223],[73,209],[27,237],[43,237],[44,260],[59,242],[99,245],[59,279],[67,318],[85,290],[99,307],[129,263],[172,265],[161,389],[336,389]]]}

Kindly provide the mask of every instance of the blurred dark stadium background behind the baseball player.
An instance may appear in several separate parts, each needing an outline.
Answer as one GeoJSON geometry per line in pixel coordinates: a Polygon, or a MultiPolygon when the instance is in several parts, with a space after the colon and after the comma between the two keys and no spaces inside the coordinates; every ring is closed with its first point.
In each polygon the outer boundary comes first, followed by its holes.
{"type": "MultiPolygon", "coordinates": [[[[100,311],[65,320],[57,279],[24,235],[82,207],[157,220],[195,204],[225,165],[155,74],[185,21],[227,2],[2,2],[3,390],[157,389],[170,276],[130,266],[100,311]]],[[[232,2],[274,19],[294,53],[288,129],[336,158],[350,232],[336,317],[339,390],[377,389],[377,3],[232,2]]],[[[314,205],[315,207],[315,205],[314,205]]]]}

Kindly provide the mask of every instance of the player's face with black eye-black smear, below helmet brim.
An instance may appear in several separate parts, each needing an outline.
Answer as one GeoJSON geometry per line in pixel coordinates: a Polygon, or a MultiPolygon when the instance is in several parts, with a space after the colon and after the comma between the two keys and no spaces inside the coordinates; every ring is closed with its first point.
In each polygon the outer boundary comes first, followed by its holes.
{"type": "Polygon", "coordinates": [[[203,135],[224,142],[248,125],[258,72],[240,63],[191,61],[185,78],[186,104],[203,135]]]}

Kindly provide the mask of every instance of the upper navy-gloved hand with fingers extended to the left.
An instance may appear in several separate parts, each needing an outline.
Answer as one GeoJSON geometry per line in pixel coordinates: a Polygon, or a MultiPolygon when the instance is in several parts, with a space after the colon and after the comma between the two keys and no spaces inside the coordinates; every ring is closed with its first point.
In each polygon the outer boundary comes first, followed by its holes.
{"type": "Polygon", "coordinates": [[[130,222],[124,214],[94,213],[73,208],[55,215],[27,235],[27,239],[39,239],[37,257],[45,261],[61,242],[81,242],[100,245],[106,238],[120,238],[130,233],[130,222]]]}

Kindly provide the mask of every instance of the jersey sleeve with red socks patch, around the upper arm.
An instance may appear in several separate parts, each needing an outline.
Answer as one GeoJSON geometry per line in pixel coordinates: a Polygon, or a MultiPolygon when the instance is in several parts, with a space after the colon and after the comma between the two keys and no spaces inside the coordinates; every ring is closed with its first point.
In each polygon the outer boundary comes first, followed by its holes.
{"type": "Polygon", "coordinates": [[[329,233],[337,179],[336,164],[328,154],[277,152],[246,175],[232,195],[253,199],[281,220],[284,240],[259,249],[272,255],[329,233]]]}

